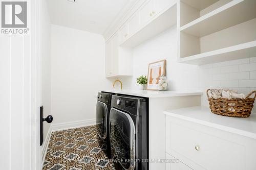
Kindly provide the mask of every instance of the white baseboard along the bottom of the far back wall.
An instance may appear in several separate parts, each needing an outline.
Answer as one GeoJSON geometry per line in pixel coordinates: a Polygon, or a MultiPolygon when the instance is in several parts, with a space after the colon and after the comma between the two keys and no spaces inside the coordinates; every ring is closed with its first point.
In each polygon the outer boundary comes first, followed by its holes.
{"type": "Polygon", "coordinates": [[[53,125],[51,125],[51,130],[52,130],[52,132],[54,132],[54,131],[61,131],[61,130],[91,126],[91,125],[96,125],[95,118],[87,119],[87,120],[79,120],[79,121],[75,121],[75,122],[61,123],[61,124],[53,124],[53,125]]]}

